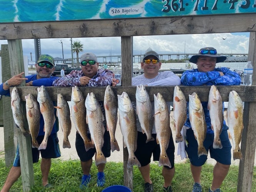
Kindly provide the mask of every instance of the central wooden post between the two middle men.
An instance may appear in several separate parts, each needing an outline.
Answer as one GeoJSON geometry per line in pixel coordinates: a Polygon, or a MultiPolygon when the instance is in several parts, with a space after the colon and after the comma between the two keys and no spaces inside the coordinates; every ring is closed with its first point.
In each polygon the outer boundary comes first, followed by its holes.
{"type": "MultiPolygon", "coordinates": [[[[132,37],[121,37],[121,54],[122,54],[122,86],[131,86],[131,77],[133,69],[132,60],[132,37]],[[129,73],[130,72],[130,73],[129,73]]],[[[133,191],[133,167],[129,168],[128,164],[128,151],[127,148],[123,149],[123,179],[126,187],[133,191]]]]}

